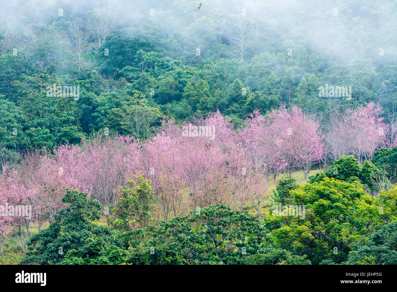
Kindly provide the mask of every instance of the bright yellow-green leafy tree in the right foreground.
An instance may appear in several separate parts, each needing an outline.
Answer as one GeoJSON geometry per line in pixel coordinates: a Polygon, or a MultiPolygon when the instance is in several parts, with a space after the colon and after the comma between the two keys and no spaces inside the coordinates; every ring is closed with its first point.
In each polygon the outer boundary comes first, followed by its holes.
{"type": "Polygon", "coordinates": [[[351,245],[387,219],[386,214],[379,212],[379,202],[365,193],[358,182],[324,178],[290,193],[291,205],[305,206],[304,218],[270,216],[266,222],[274,228],[272,236],[280,248],[308,255],[313,264],[325,259],[345,261],[351,245]]]}

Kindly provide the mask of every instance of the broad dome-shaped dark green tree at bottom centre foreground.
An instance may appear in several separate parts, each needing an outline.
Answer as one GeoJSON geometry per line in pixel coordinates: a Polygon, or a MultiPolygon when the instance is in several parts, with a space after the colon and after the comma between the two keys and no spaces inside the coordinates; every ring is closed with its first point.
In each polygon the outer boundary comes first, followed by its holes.
{"type": "Polygon", "coordinates": [[[266,253],[266,228],[245,211],[211,205],[184,217],[161,222],[148,231],[148,241],[135,248],[134,264],[244,264],[266,253]]]}

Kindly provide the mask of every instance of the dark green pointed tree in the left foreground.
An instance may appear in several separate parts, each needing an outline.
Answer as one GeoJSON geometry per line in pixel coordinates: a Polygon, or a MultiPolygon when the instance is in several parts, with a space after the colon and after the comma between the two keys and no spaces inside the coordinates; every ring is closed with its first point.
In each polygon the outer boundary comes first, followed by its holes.
{"type": "Polygon", "coordinates": [[[124,254],[110,244],[111,231],[91,220],[98,220],[100,205],[86,193],[67,191],[62,202],[68,204],[54,222],[32,235],[23,264],[111,264],[124,254]],[[108,257],[105,259],[105,257],[108,257]]]}

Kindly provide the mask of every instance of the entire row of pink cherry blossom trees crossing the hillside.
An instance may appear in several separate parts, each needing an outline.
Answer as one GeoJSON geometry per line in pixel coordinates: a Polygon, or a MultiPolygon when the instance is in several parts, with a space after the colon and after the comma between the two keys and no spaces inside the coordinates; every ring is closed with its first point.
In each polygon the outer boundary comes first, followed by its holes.
{"type": "MultiPolygon", "coordinates": [[[[214,203],[233,209],[253,206],[260,218],[269,182],[282,170],[291,175],[302,169],[307,180],[312,165],[324,157],[324,149],[331,159],[344,154],[369,159],[377,148],[393,145],[394,141],[385,139],[393,135],[381,113],[372,103],[346,110],[327,121],[325,135],[318,122],[299,108],[281,105],[266,116],[254,111],[239,130],[217,111],[185,124],[164,120],[156,135],[145,141],[122,135],[91,137],[81,145],[59,145],[53,154],[24,155],[18,172],[3,174],[0,203],[13,202],[18,194],[20,201],[34,207],[40,227],[52,222],[63,207],[66,190],[73,189],[88,192],[108,216],[120,186],[141,173],[155,190],[157,220],[214,203]]],[[[13,220],[19,219],[0,222],[4,236],[13,220]]],[[[17,221],[20,226],[25,224],[21,220],[17,221]]]]}

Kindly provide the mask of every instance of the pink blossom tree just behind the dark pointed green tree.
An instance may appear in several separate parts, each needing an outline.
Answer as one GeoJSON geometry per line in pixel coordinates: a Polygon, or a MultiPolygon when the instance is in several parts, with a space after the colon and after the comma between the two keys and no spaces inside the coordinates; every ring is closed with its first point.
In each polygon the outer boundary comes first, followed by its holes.
{"type": "Polygon", "coordinates": [[[97,136],[81,146],[63,145],[54,151],[54,163],[68,185],[88,192],[108,215],[120,186],[136,174],[139,151],[133,138],[97,136]]]}

